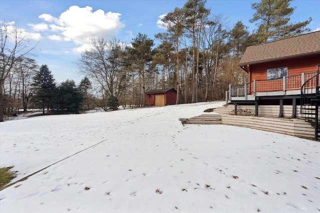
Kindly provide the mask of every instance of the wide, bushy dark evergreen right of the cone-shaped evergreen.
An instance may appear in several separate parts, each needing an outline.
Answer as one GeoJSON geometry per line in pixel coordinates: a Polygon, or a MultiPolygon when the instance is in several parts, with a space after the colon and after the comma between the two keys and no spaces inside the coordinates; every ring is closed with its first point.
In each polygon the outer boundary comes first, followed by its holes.
{"type": "Polygon", "coordinates": [[[67,112],[77,112],[83,100],[82,94],[73,80],[60,83],[55,92],[55,108],[67,112]]]}

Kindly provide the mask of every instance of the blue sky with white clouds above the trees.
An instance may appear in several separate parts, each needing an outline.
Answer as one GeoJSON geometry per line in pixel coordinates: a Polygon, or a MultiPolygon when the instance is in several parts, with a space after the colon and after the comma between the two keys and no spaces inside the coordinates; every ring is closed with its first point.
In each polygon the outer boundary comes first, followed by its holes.
{"type": "MultiPolygon", "coordinates": [[[[129,44],[138,32],[153,39],[164,29],[157,25],[160,15],[182,7],[186,0],[0,0],[0,20],[14,21],[27,37],[38,42],[33,57],[39,65],[47,64],[57,82],[84,77],[75,63],[79,52],[92,37],[112,36],[129,44]]],[[[259,0],[207,0],[211,14],[223,14],[230,28],[241,20],[249,27],[259,0]]],[[[320,30],[320,0],[293,0],[296,7],[291,22],[312,17],[308,27],[320,30]]]]}

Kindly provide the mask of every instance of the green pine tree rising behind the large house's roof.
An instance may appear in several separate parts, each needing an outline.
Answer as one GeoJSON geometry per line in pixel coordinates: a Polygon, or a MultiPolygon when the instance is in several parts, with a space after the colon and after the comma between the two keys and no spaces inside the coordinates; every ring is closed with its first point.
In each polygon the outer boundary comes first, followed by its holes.
{"type": "Polygon", "coordinates": [[[310,31],[305,28],[311,22],[311,17],[303,22],[288,23],[295,8],[289,7],[291,0],[261,0],[252,3],[251,8],[256,12],[250,22],[257,22],[256,31],[260,41],[266,43],[281,37],[290,37],[310,31]]]}

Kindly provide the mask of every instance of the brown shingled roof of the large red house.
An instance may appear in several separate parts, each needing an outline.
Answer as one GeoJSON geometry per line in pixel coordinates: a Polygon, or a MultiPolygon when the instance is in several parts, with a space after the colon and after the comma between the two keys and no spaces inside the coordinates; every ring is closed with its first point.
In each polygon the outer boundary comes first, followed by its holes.
{"type": "Polygon", "coordinates": [[[320,53],[320,31],[249,46],[238,66],[320,53]]]}

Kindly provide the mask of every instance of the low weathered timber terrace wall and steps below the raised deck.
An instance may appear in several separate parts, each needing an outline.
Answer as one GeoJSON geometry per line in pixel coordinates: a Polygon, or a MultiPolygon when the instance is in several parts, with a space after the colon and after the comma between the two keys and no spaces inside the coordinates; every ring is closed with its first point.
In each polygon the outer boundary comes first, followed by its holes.
{"type": "Polygon", "coordinates": [[[184,124],[222,124],[252,128],[304,138],[314,138],[314,128],[301,119],[202,114],[193,118],[180,118],[184,124]]]}

